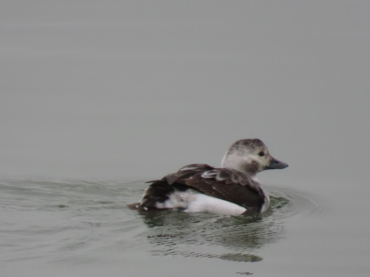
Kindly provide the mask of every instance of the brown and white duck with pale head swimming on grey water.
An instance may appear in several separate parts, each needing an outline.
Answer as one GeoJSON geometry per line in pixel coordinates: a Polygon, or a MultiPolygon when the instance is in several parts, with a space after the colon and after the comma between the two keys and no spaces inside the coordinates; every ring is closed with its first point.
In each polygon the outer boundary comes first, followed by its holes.
{"type": "Polygon", "coordinates": [[[250,215],[265,212],[270,205],[267,192],[256,174],[283,169],[287,163],[273,158],[258,138],[233,143],[221,167],[189,164],[162,179],[149,181],[138,203],[129,208],[141,211],[177,209],[218,215],[250,215]]]}

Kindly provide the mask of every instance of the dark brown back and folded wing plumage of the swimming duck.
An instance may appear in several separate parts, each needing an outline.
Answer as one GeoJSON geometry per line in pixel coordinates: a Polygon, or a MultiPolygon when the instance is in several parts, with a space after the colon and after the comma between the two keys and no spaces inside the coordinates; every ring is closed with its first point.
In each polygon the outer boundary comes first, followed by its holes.
{"type": "Polygon", "coordinates": [[[206,195],[223,199],[239,206],[261,207],[265,201],[259,184],[237,170],[215,168],[208,164],[190,164],[162,179],[149,181],[141,199],[141,206],[154,208],[176,190],[189,187],[206,195]]]}

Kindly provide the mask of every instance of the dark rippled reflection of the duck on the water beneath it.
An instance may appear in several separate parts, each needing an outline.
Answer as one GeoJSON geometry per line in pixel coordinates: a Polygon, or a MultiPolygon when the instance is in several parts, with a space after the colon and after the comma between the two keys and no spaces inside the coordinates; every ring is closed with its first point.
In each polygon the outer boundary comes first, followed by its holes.
{"type": "Polygon", "coordinates": [[[255,250],[284,237],[281,223],[283,215],[291,209],[288,198],[272,196],[271,206],[262,216],[219,216],[171,210],[141,215],[154,233],[148,236],[154,255],[260,261],[263,258],[254,254],[255,250]],[[229,252],[225,253],[225,249],[229,252]]]}

